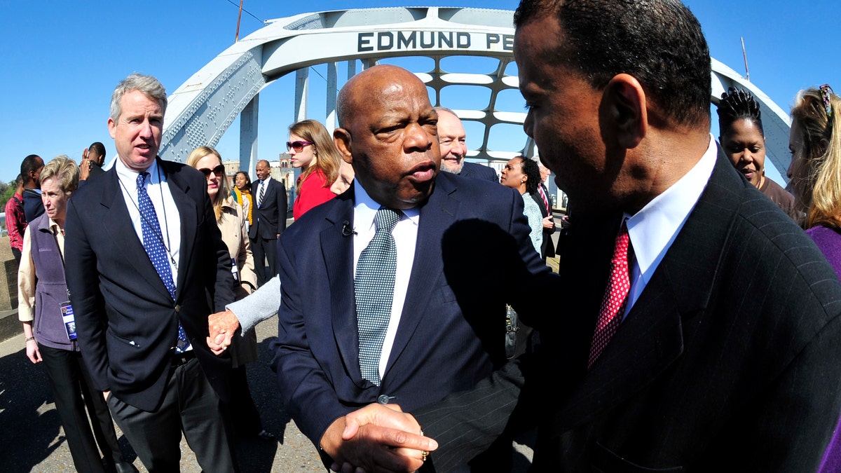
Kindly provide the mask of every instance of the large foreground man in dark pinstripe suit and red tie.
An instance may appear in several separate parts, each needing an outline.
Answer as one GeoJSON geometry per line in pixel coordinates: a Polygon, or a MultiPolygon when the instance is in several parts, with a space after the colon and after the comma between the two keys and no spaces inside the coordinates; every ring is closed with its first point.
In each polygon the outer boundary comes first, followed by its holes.
{"type": "MultiPolygon", "coordinates": [[[[524,0],[515,24],[526,133],[575,202],[567,303],[526,320],[537,359],[415,412],[436,468],[516,406],[538,424],[532,470],[817,470],[841,408],[841,285],[710,135],[697,19],[673,0],[524,0]]],[[[387,414],[404,417],[346,422],[387,414]]]]}

